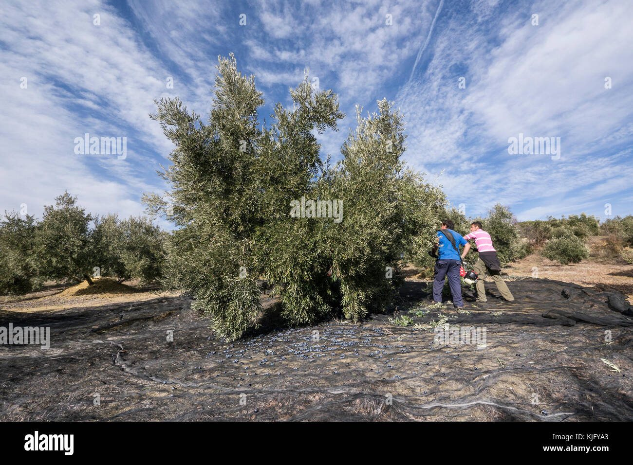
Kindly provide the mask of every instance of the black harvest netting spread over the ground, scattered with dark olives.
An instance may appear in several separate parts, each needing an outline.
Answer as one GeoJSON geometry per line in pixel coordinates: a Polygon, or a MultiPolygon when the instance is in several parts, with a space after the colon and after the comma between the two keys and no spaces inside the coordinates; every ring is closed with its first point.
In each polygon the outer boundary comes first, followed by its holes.
{"type": "Polygon", "coordinates": [[[51,327],[49,350],[0,346],[0,420],[633,419],[624,296],[552,280],[508,285],[516,304],[488,285],[485,308],[467,299],[470,313],[458,313],[423,304],[427,285],[407,282],[397,315],[412,319],[406,327],[374,314],[287,328],[267,299],[265,324],[234,343],[180,297],[0,312],[0,326],[51,327]],[[485,347],[438,344],[438,321],[449,332],[485,328],[485,347]]]}

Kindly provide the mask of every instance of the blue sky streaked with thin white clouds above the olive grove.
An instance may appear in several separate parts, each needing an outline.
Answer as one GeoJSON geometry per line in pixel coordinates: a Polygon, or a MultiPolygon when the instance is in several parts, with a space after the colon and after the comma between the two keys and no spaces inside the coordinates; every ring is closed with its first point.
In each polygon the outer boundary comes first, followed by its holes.
{"type": "Polygon", "coordinates": [[[217,56],[233,52],[263,92],[260,122],[292,104],[306,68],[334,90],[347,116],[319,136],[324,156],[340,158],[356,105],[367,115],[386,97],[407,121],[406,161],[469,216],[497,202],[519,220],[604,219],[605,204],[624,216],[632,24],[623,0],[4,1],[0,210],[27,204],[41,217],[68,190],[92,213],[142,213],[142,193],[165,189],[154,170],[172,149],[147,116],[153,99],[179,96],[206,115],[217,56]],[[75,154],[84,133],[127,137],[127,157],[75,154]],[[519,133],[560,137],[560,159],[509,154],[519,133]]]}

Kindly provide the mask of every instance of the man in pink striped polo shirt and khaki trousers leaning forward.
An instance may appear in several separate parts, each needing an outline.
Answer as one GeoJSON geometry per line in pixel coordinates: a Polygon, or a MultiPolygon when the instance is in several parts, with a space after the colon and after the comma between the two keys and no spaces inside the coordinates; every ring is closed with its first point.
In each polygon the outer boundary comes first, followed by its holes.
{"type": "Polygon", "coordinates": [[[475,245],[479,252],[479,260],[473,266],[473,271],[479,275],[477,280],[477,302],[484,303],[486,299],[486,287],[484,287],[484,271],[488,272],[492,280],[496,284],[501,296],[508,302],[514,301],[514,297],[508,289],[503,278],[501,278],[501,264],[497,257],[497,251],[492,247],[492,239],[486,231],[482,230],[481,223],[474,221],[470,225],[470,234],[464,236],[464,239],[475,239],[475,245]]]}

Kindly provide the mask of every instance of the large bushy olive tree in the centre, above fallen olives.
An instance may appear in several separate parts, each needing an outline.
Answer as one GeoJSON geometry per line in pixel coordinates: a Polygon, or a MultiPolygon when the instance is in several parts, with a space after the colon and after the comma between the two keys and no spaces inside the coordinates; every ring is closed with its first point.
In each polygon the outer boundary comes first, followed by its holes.
{"type": "Polygon", "coordinates": [[[163,282],[194,294],[194,307],[228,339],[255,321],[260,278],[293,324],[334,311],[358,320],[387,305],[399,259],[429,247],[443,202],[401,161],[398,112],[387,101],[368,118],[359,110],[333,166],[315,133],[337,130],[344,115],[332,90],[315,91],[307,74],[291,89],[292,108],[275,104],[261,127],[261,92],[232,54],[218,58],[214,93],[206,122],[179,99],[157,101],[151,115],[175,145],[159,173],[170,190],[144,196],[150,213],[176,226],[163,282]]]}

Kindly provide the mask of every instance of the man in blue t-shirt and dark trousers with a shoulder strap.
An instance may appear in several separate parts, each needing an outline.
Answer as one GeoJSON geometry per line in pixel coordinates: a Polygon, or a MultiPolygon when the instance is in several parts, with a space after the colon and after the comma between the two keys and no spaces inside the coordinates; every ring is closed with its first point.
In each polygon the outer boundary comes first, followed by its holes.
{"type": "Polygon", "coordinates": [[[453,294],[453,304],[458,308],[463,308],[464,301],[461,299],[461,283],[460,283],[460,266],[461,259],[466,256],[470,250],[470,244],[464,239],[460,233],[454,232],[453,221],[442,221],[442,230],[437,232],[437,244],[433,248],[433,254],[437,252],[437,261],[435,266],[435,276],[433,278],[433,301],[442,302],[442,289],[444,288],[444,278],[448,276],[448,284],[453,294]],[[451,244],[451,240],[444,235],[448,232],[453,236],[455,247],[451,244]],[[460,245],[464,246],[464,251],[460,258],[460,245]]]}

